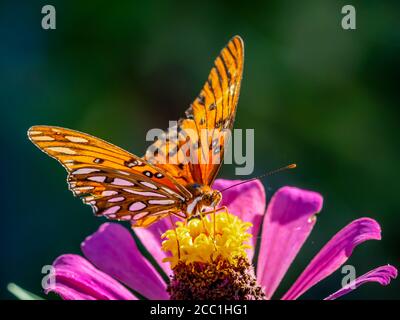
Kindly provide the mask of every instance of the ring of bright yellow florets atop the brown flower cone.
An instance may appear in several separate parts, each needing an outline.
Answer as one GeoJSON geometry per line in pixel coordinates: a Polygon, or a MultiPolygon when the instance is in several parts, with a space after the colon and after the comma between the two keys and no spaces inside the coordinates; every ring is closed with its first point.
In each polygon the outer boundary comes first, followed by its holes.
{"type": "Polygon", "coordinates": [[[179,221],[175,229],[167,230],[162,238],[162,249],[170,253],[164,262],[170,262],[174,268],[179,262],[209,263],[225,261],[236,265],[240,258],[247,260],[247,242],[251,234],[247,230],[250,222],[243,222],[237,216],[227,212],[189,221],[179,221]],[[178,247],[179,245],[179,247],[178,247]]]}

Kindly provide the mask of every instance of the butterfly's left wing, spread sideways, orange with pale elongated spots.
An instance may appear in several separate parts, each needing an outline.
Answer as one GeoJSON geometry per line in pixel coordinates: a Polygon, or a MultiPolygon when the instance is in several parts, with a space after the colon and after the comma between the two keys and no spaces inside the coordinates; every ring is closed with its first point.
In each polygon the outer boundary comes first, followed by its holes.
{"type": "Polygon", "coordinates": [[[148,226],[191,198],[162,169],[99,138],[52,126],[34,126],[28,136],[65,167],[69,189],[96,215],[148,226]]]}

